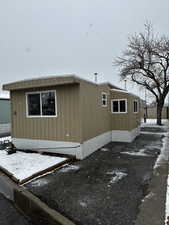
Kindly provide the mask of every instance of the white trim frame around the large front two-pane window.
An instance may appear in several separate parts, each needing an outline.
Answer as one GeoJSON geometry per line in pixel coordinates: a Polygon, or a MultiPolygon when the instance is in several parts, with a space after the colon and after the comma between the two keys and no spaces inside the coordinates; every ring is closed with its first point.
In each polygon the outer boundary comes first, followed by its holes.
{"type": "Polygon", "coordinates": [[[26,97],[26,117],[27,118],[52,118],[52,117],[57,117],[57,96],[56,96],[56,90],[45,90],[45,91],[32,91],[32,92],[26,92],[25,93],[25,97],[26,97]],[[54,92],[55,93],[55,115],[52,116],[45,116],[42,115],[42,99],[41,99],[41,93],[45,93],[45,92],[54,92]],[[30,116],[28,114],[28,95],[29,94],[40,94],[40,114],[41,115],[37,115],[37,116],[30,116]]]}

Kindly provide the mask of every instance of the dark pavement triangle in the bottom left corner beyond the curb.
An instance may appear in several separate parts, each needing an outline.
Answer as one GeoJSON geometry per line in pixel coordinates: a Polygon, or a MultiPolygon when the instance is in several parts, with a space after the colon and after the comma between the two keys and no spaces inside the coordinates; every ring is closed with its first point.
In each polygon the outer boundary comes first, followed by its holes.
{"type": "Polygon", "coordinates": [[[0,194],[0,225],[33,225],[14,205],[0,194]]]}

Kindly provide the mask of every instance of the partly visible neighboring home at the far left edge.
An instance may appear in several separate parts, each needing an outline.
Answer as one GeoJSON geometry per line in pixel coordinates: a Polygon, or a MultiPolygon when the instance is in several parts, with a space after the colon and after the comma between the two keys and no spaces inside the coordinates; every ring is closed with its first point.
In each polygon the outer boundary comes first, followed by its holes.
{"type": "Polygon", "coordinates": [[[10,99],[0,96],[0,135],[10,133],[10,99]]]}

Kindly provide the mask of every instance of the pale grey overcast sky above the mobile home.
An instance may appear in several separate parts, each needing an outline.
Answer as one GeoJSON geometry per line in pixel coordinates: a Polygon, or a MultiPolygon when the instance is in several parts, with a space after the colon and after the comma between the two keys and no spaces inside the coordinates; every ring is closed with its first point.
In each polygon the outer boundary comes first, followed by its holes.
{"type": "Polygon", "coordinates": [[[112,61],[146,20],[169,35],[169,0],[1,1],[0,84],[98,72],[100,82],[124,88],[112,61]]]}

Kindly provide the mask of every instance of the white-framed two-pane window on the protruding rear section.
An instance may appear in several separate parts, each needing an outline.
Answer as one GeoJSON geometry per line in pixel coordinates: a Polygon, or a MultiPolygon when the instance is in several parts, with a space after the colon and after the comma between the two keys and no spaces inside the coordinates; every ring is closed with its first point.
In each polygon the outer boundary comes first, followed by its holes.
{"type": "Polygon", "coordinates": [[[127,113],[126,99],[115,99],[111,103],[112,113],[127,113]]]}

